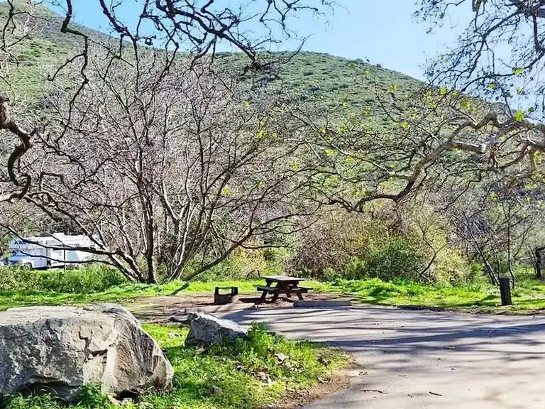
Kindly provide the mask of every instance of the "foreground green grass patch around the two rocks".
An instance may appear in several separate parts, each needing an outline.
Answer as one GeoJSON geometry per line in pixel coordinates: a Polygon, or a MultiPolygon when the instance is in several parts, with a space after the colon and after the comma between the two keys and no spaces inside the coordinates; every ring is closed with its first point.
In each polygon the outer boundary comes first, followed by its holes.
{"type": "MultiPolygon", "coordinates": [[[[310,342],[292,342],[266,334],[253,326],[248,339],[221,344],[207,351],[184,346],[187,329],[145,325],[166,351],[175,369],[173,388],[150,393],[124,408],[148,409],[251,409],[264,408],[285,393],[318,381],[348,363],[340,351],[310,342]],[[219,388],[219,389],[218,389],[219,388]],[[213,391],[215,393],[211,393],[213,391]]],[[[14,396],[7,409],[116,408],[96,387],[89,387],[75,405],[62,405],[52,396],[14,396]]]]}

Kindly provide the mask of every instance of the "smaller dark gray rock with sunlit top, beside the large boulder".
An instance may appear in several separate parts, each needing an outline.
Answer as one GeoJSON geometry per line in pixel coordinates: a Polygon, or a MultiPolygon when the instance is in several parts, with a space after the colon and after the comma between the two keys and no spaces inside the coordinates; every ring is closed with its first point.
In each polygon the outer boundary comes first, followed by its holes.
{"type": "Polygon", "coordinates": [[[188,347],[210,345],[224,340],[233,341],[246,337],[248,330],[229,320],[220,320],[204,312],[189,313],[189,334],[185,339],[188,347]]]}

